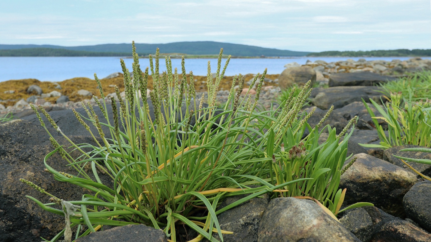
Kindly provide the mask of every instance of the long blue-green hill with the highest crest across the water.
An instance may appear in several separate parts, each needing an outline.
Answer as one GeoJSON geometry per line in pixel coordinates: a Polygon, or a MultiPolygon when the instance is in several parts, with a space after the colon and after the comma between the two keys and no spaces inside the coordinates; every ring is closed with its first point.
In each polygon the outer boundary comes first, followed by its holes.
{"type": "MultiPolygon", "coordinates": [[[[190,55],[216,55],[219,54],[220,48],[223,48],[223,53],[238,57],[260,57],[262,55],[266,57],[297,57],[311,53],[214,41],[175,42],[169,44],[136,44],[136,50],[139,54],[155,53],[157,47],[160,48],[161,53],[183,53],[190,55]]],[[[119,56],[123,56],[124,53],[129,53],[128,55],[131,55],[132,47],[131,44],[98,44],[72,47],[36,44],[0,44],[0,50],[20,50],[25,52],[24,49],[34,48],[63,49],[110,54],[119,53],[119,56]]],[[[9,53],[14,52],[12,51],[9,53]]]]}

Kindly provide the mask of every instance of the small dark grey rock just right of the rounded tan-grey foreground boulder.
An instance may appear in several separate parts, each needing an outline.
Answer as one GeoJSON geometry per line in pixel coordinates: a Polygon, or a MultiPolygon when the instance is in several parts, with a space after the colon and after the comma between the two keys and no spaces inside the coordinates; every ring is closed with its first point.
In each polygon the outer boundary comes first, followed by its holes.
{"type": "Polygon", "coordinates": [[[362,242],[369,242],[373,235],[373,221],[367,211],[362,208],[353,208],[340,214],[339,221],[362,242]]]}

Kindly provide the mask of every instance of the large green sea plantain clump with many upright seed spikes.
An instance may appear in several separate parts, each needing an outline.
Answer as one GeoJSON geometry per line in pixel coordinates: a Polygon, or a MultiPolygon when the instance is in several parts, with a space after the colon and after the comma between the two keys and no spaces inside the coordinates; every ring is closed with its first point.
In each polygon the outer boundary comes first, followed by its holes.
{"type": "MultiPolygon", "coordinates": [[[[55,149],[44,159],[47,171],[60,182],[91,191],[82,195],[81,201],[63,201],[21,179],[52,197],[52,202],[44,204],[28,198],[44,210],[66,217],[66,228],[50,241],[57,241],[63,235],[66,241],[71,241],[74,226],[78,226],[74,236],[77,239],[104,225],[144,223],[163,229],[169,241],[177,241],[177,226],[185,224],[199,233],[194,241],[206,238],[215,242],[213,233],[221,240],[223,233],[231,233],[220,228],[218,214],[265,193],[272,197],[306,196],[328,207],[328,213],[337,214],[346,192],[338,189],[338,184],[351,133],[341,142],[340,137],[353,125],[353,120],[340,135],[328,127],[329,138],[319,145],[318,127],[330,112],[316,127],[306,123],[314,112],[314,109],[308,114],[300,111],[311,92],[309,82],[297,96],[292,92],[281,106],[257,111],[266,69],[250,85],[253,87],[259,81],[253,98],[240,95],[244,76],[237,75],[228,102],[220,109],[215,105],[215,97],[230,60],[229,56],[222,69],[222,50],[215,79],[208,62],[208,98],[204,100],[204,95],[196,98],[193,73],[186,79],[184,58],[182,79],[178,80],[177,69],[172,73],[169,57],[165,57],[167,72],[159,73],[158,49],[155,62],[150,56],[150,67],[144,72],[134,44],[132,49],[133,78],[121,60],[125,100],[116,88],[119,104],[113,97],[106,104],[101,82],[95,75],[103,99],[94,99],[107,123],[99,121],[90,105],[83,104],[87,117],[73,110],[94,138],[94,144],[74,144],[39,106],[51,125],[71,143],[71,148],[81,153],[79,157],[72,157],[72,152],[67,152],[51,135],[55,149]],[[154,88],[147,103],[145,99],[140,101],[139,95],[147,92],[149,74],[153,76],[154,88]],[[234,89],[236,82],[239,82],[237,90],[234,89]],[[149,111],[149,103],[153,105],[154,115],[149,111]],[[112,113],[108,111],[109,105],[112,113]],[[113,123],[109,122],[111,115],[113,123]],[[94,125],[98,134],[92,133],[89,125],[94,125]],[[109,134],[103,132],[102,126],[109,128],[109,134]],[[309,135],[303,138],[306,129],[309,135]],[[49,158],[56,152],[76,170],[74,174],[50,167],[49,158]],[[84,166],[91,167],[89,174],[84,166]],[[103,184],[100,170],[113,184],[103,184]],[[219,201],[241,194],[247,196],[217,210],[219,201]],[[62,209],[55,208],[56,204],[62,209]],[[81,233],[84,226],[87,229],[81,233]]],[[[32,107],[45,127],[36,107],[32,107]]]]}

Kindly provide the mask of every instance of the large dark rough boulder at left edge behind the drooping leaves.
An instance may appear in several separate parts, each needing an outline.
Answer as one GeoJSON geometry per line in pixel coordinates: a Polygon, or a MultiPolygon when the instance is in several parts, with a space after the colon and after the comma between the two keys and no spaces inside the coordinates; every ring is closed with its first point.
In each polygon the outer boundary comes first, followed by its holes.
{"type": "MultiPolygon", "coordinates": [[[[41,186],[47,192],[66,201],[81,200],[88,190],[66,182],[56,181],[51,173],[44,171],[44,157],[53,151],[49,135],[39,125],[22,119],[0,124],[0,235],[1,241],[40,242],[41,236],[52,239],[65,226],[63,216],[44,211],[35,202],[26,198],[30,195],[42,203],[49,203],[50,197],[19,181],[27,179],[41,186]]],[[[53,133],[54,138],[69,147],[63,137],[53,133]]],[[[77,144],[94,144],[88,136],[70,136],[77,144]]],[[[69,150],[70,151],[70,150],[69,150]]],[[[59,154],[47,161],[53,169],[74,174],[76,170],[66,166],[68,162],[59,154]]],[[[89,173],[92,176],[92,173],[89,173]]],[[[111,179],[99,174],[103,183],[111,179]]],[[[60,208],[56,206],[56,208],[60,208]]]]}

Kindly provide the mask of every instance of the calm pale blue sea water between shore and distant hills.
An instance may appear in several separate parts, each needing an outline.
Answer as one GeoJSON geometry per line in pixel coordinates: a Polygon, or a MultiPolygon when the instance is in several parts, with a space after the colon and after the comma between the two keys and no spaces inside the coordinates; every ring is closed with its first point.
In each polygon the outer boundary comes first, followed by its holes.
{"type": "MultiPolygon", "coordinates": [[[[368,57],[366,60],[408,60],[411,57],[368,57]]],[[[430,59],[430,57],[424,57],[430,59]]],[[[231,59],[225,75],[262,73],[268,68],[269,74],[280,74],[284,65],[291,62],[305,64],[307,60],[324,60],[328,63],[339,60],[360,57],[292,57],[280,59],[231,59]]],[[[217,69],[217,59],[186,59],[186,72],[193,71],[194,75],[206,75],[207,63],[211,61],[211,71],[217,69]]],[[[226,60],[222,61],[224,66],[226,60]]],[[[131,71],[132,59],[125,59],[126,66],[131,71]]],[[[149,66],[148,59],[140,59],[141,68],[149,66]]],[[[160,71],[166,70],[165,60],[160,64],[160,71]]],[[[172,67],[181,72],[181,59],[172,59],[172,67]]],[[[0,82],[14,79],[34,78],[40,81],[59,82],[74,77],[93,78],[97,73],[104,78],[113,72],[121,72],[119,57],[0,57],[0,82]]]]}

